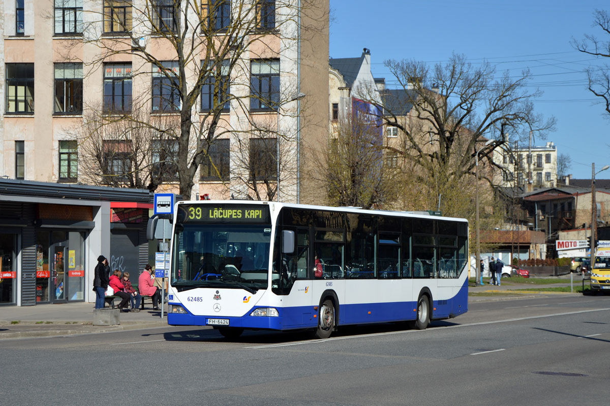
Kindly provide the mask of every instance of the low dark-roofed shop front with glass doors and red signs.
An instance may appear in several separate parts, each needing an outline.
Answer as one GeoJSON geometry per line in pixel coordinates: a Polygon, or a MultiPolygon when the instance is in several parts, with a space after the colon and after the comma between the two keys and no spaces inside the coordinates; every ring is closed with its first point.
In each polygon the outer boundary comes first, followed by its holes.
{"type": "MultiPolygon", "coordinates": [[[[135,201],[145,205],[135,208],[143,209],[151,205],[152,194],[142,189],[0,179],[0,306],[93,303],[96,259],[100,254],[111,257],[113,201],[135,201]]],[[[122,219],[125,224],[117,222],[116,228],[137,229],[140,234],[145,217],[130,217],[131,223],[122,219]]],[[[147,251],[147,246],[139,241],[131,247],[147,251]]],[[[129,253],[129,259],[146,261],[140,250],[129,253]]],[[[139,262],[134,265],[139,267],[139,262]]]]}

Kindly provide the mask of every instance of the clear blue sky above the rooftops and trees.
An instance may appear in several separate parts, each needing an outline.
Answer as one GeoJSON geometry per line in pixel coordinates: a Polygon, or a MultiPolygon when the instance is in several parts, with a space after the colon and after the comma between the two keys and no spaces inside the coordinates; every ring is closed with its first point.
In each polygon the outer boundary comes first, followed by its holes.
{"type": "MultiPolygon", "coordinates": [[[[371,51],[373,75],[392,75],[388,59],[447,61],[453,52],[472,63],[487,60],[501,73],[519,74],[529,68],[530,85],[544,94],[534,100],[538,113],[557,119],[556,131],[547,139],[558,153],[572,158],[568,173],[591,177],[610,164],[610,120],[586,88],[584,69],[610,65],[610,58],[595,58],[575,51],[572,37],[592,33],[610,40],[592,27],[595,9],[610,12],[610,2],[597,0],[330,0],[330,56],[357,57],[362,48],[371,51]]],[[[596,178],[610,178],[610,170],[596,178]]]]}

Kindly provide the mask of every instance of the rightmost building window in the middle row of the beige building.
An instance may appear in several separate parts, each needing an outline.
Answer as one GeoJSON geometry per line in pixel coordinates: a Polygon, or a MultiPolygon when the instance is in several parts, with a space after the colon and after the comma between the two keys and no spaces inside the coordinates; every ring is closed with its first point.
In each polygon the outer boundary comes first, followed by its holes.
{"type": "Polygon", "coordinates": [[[250,63],[250,110],[274,110],[279,103],[279,60],[250,63]]]}

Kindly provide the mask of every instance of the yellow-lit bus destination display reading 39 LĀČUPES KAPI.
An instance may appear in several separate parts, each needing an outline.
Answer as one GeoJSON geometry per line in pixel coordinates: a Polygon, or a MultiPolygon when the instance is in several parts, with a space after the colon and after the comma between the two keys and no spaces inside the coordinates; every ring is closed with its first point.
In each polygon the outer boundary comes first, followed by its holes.
{"type": "Polygon", "coordinates": [[[263,205],[180,205],[182,223],[269,223],[269,206],[263,205]]]}

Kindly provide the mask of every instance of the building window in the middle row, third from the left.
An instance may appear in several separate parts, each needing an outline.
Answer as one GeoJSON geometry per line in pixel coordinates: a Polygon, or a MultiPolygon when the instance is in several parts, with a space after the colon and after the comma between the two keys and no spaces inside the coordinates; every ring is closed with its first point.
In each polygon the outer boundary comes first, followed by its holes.
{"type": "Polygon", "coordinates": [[[104,112],[131,111],[131,63],[104,65],[104,112]]]}

